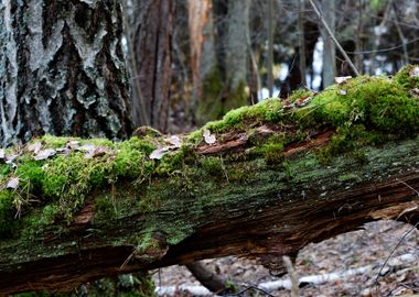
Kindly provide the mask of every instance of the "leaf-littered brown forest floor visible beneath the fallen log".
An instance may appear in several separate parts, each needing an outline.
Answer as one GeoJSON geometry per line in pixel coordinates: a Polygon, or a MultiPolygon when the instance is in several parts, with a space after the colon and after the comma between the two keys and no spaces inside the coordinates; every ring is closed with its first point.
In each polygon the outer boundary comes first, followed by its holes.
{"type": "MultiPolygon", "coordinates": [[[[379,221],[366,224],[365,230],[309,244],[300,251],[294,266],[300,279],[310,275],[329,274],[329,280],[300,284],[300,296],[376,297],[419,294],[418,243],[419,231],[413,230],[411,226],[379,221]],[[351,275],[351,272],[354,273],[351,275]],[[336,276],[333,273],[346,275],[336,276]]],[[[268,282],[289,279],[288,275],[280,278],[271,276],[268,270],[245,258],[229,256],[207,260],[205,263],[210,270],[227,277],[241,288],[262,286],[264,283],[267,286],[278,283],[268,282]]],[[[184,266],[155,271],[153,277],[158,287],[175,288],[174,295],[161,296],[197,296],[180,288],[201,285],[184,266]]],[[[247,295],[234,296],[290,296],[290,290],[286,288],[270,290],[269,295],[261,290],[251,292],[253,294],[246,290],[247,295]]]]}

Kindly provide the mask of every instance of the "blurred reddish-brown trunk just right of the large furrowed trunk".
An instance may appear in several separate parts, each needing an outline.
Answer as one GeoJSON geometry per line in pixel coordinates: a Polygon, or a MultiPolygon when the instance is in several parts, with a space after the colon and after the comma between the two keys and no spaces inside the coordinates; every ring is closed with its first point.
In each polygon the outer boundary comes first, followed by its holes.
{"type": "Polygon", "coordinates": [[[171,85],[173,1],[133,1],[128,29],[136,125],[166,131],[171,85]]]}

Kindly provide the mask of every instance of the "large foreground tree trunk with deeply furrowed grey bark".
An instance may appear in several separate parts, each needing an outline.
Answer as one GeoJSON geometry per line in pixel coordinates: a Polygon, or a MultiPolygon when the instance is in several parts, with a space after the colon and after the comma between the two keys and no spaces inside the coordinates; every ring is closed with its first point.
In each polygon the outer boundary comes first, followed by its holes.
{"type": "Polygon", "coordinates": [[[131,133],[118,1],[0,3],[0,144],[131,133]]]}

